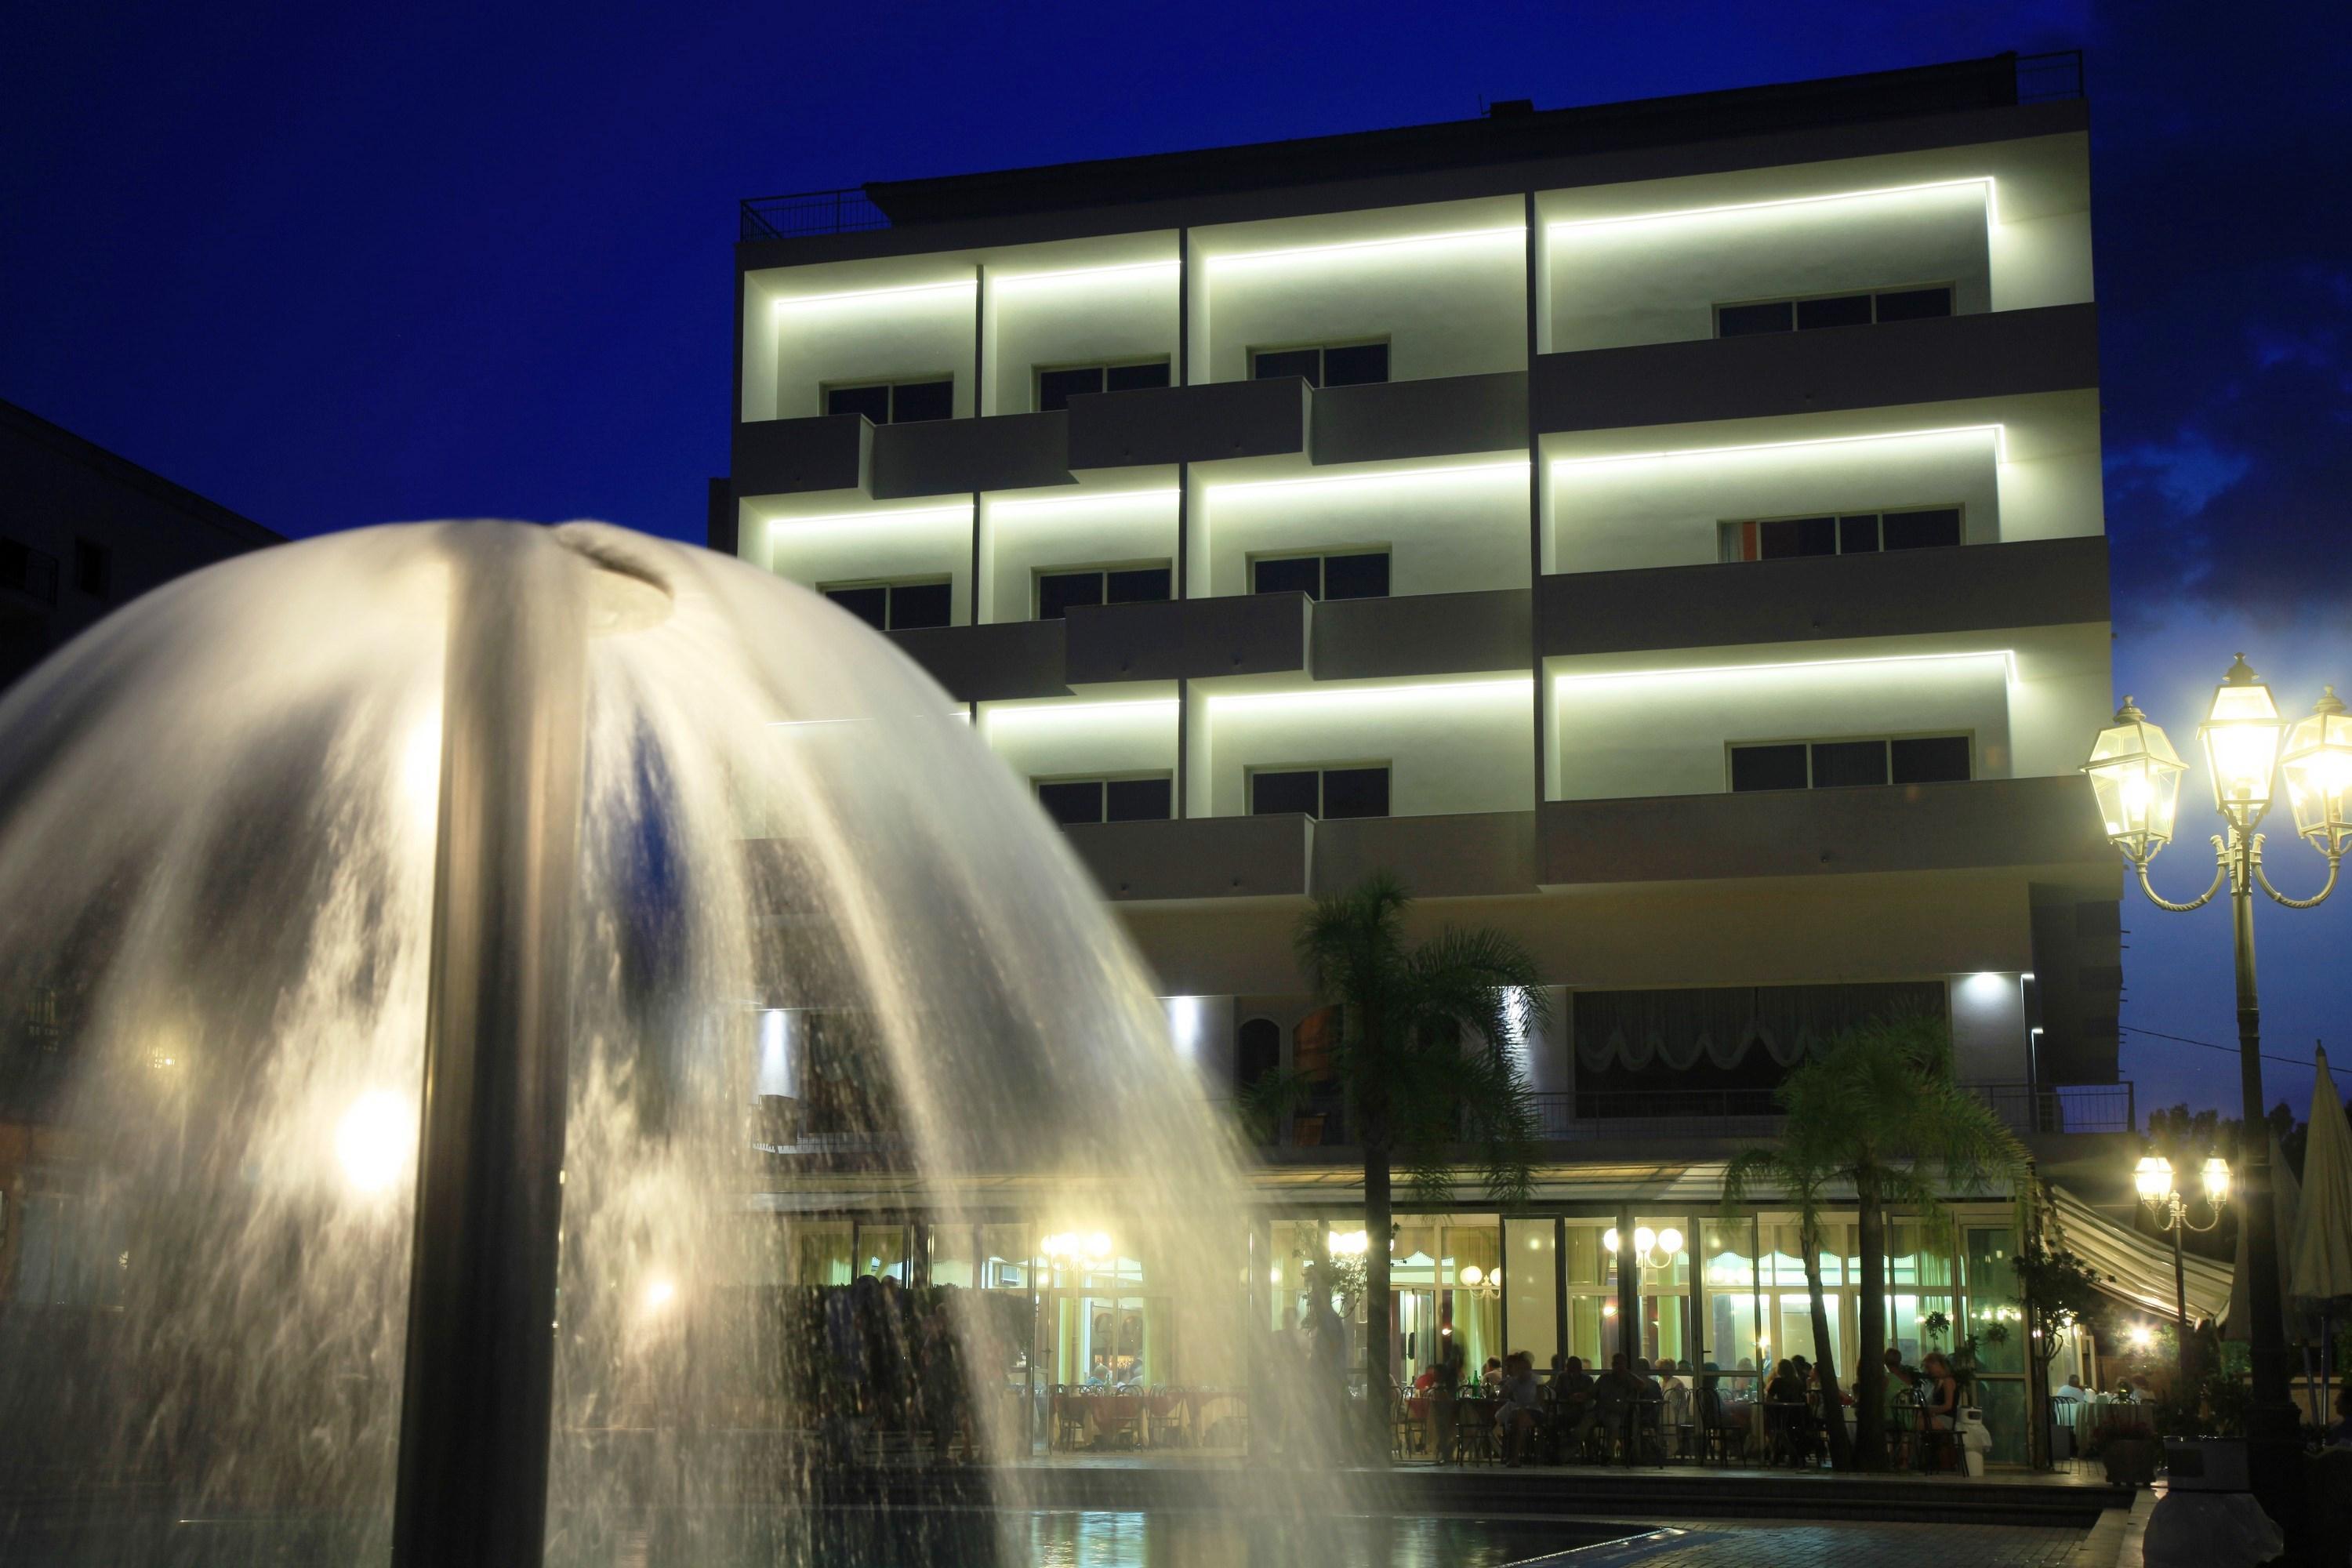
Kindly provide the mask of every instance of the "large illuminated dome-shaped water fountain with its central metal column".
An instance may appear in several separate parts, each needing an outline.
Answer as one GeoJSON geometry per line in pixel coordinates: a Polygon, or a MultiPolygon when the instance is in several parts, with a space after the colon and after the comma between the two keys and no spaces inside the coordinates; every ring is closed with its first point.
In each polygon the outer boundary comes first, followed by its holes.
{"type": "MultiPolygon", "coordinates": [[[[844,1190],[1117,1215],[1188,1378],[1249,1375],[1237,1150],[1084,875],[910,663],[724,557],[409,524],[139,599],[0,701],[0,999],[9,1561],[882,1554],[720,1415],[826,1354],[753,1286],[844,1190]],[[757,1009],[880,1065],[854,1159],[755,1152],[757,1009]]],[[[1308,1474],[1230,1486],[1336,1507],[1308,1474]]]]}

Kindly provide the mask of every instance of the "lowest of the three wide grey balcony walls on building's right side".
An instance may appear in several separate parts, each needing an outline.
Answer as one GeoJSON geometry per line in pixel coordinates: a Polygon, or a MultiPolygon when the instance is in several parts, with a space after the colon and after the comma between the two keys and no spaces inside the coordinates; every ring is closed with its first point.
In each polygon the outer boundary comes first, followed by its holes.
{"type": "Polygon", "coordinates": [[[2079,778],[1559,799],[1545,886],[2096,865],[2114,851],[2079,778]]]}

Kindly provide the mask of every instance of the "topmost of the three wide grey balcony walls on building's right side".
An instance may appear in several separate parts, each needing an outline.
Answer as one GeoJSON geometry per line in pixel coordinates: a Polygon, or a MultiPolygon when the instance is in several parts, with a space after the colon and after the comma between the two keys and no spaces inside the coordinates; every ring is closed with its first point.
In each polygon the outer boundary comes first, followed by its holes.
{"type": "Polygon", "coordinates": [[[2098,386],[2098,308],[1541,355],[1536,430],[1625,430],[2098,386]]]}

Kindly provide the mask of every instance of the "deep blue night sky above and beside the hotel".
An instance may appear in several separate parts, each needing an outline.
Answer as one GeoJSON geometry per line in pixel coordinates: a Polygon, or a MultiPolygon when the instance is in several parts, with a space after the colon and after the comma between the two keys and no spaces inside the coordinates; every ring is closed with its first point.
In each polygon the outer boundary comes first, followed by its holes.
{"type": "MultiPolygon", "coordinates": [[[[19,5],[0,397],[285,534],[699,538],[743,195],[2060,47],[2089,52],[2117,684],[2183,745],[2239,646],[2291,712],[2352,696],[2352,21],[2321,0],[19,5]]],[[[2183,832],[2173,896],[2211,867],[2206,811],[2183,832]]],[[[2270,867],[2310,891],[2319,858],[2270,867]]],[[[2124,1023],[2234,1039],[2227,912],[2124,924],[2124,1023]]],[[[2352,1053],[2352,898],[2260,940],[2270,1048],[2352,1053]]],[[[2237,1100],[2218,1051],[2126,1034],[2124,1074],[2143,1107],[2237,1100]]],[[[2300,1110],[2310,1074],[2267,1086],[2300,1110]]]]}

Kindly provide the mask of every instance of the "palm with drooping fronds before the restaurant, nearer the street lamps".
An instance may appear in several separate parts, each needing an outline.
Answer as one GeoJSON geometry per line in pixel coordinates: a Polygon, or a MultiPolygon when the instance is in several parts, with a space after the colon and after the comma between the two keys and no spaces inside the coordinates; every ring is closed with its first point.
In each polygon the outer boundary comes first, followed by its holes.
{"type": "MultiPolygon", "coordinates": [[[[1952,1079],[1952,1034],[1936,1018],[1860,1023],[1783,1079],[1788,1124],[1778,1150],[1750,1150],[1743,1182],[1755,1187],[1778,1164],[1780,1178],[1818,1173],[1853,1190],[1860,1255],[1860,1366],[1853,1448],[1863,1469],[1886,1462],[1886,1208],[1910,1208],[1926,1234],[1952,1237],[1945,1192],[1980,1192],[2006,1182],[2032,1204],[2030,1157],[1994,1110],[1952,1079]]],[[[1795,1187],[1783,1192],[1799,1201],[1795,1187]]],[[[1731,1201],[1726,1180],[1724,1199],[1731,1201]]],[[[1818,1192],[1816,1192],[1818,1206],[1818,1192]]],[[[1813,1340],[1828,1366],[1828,1319],[1820,1312],[1818,1248],[1806,1241],[1813,1288],[1813,1340]]],[[[1842,1422],[1830,1422],[1832,1432],[1842,1422]]]]}

